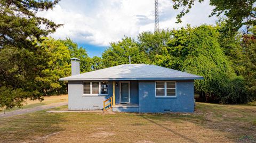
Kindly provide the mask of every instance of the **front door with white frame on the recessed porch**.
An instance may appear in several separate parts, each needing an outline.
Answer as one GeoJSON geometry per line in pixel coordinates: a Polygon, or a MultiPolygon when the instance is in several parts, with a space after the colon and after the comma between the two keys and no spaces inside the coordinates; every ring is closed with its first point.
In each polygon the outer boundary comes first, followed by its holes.
{"type": "Polygon", "coordinates": [[[130,103],[130,81],[120,81],[120,103],[130,103]]]}

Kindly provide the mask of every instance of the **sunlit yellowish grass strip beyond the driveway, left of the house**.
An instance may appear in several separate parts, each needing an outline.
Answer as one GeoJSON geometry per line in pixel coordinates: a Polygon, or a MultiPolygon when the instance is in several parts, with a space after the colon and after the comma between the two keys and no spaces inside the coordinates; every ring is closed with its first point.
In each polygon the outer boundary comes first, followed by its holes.
{"type": "MultiPolygon", "coordinates": [[[[57,102],[67,102],[68,101],[68,95],[56,95],[56,96],[44,96],[44,100],[40,102],[39,100],[30,100],[27,99],[25,103],[23,103],[23,106],[21,108],[33,108],[36,106],[42,106],[42,105],[49,105],[52,103],[57,102]]],[[[19,110],[20,108],[12,108],[11,110],[6,110],[5,112],[19,110]]],[[[0,108],[0,113],[3,112],[3,110],[0,108]]]]}

